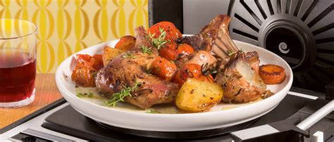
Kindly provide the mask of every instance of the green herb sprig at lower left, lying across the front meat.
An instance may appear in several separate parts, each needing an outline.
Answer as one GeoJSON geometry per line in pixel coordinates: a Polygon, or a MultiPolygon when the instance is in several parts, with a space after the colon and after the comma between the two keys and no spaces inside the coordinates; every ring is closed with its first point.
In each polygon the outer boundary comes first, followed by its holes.
{"type": "Polygon", "coordinates": [[[116,106],[116,103],[119,101],[124,101],[125,96],[131,96],[131,92],[138,89],[138,86],[140,86],[141,83],[136,83],[135,86],[132,87],[125,87],[124,89],[120,90],[118,93],[113,93],[113,96],[110,100],[104,101],[104,105],[113,107],[116,106]]]}

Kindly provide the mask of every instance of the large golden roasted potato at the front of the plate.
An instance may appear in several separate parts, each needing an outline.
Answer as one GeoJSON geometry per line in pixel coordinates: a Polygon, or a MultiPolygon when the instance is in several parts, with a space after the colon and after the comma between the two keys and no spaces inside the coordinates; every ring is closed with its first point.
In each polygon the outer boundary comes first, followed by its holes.
{"type": "Polygon", "coordinates": [[[189,78],[183,84],[175,103],[181,110],[204,112],[214,107],[223,98],[223,89],[214,82],[189,78]]]}

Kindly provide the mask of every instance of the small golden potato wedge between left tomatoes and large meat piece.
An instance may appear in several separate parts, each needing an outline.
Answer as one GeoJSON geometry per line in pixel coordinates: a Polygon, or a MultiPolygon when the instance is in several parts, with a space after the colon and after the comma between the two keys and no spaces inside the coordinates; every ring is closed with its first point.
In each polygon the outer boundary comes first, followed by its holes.
{"type": "Polygon", "coordinates": [[[105,46],[102,51],[102,62],[104,67],[108,65],[108,63],[116,56],[120,55],[121,53],[125,53],[127,50],[125,49],[113,49],[109,46],[105,46]]]}

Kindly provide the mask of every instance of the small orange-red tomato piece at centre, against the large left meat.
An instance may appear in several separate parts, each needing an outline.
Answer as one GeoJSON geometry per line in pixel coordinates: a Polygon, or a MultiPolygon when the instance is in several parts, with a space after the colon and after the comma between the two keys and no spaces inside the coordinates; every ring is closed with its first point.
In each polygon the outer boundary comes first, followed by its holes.
{"type": "Polygon", "coordinates": [[[176,72],[176,65],[166,58],[158,56],[152,63],[152,73],[158,77],[171,80],[176,72]]]}

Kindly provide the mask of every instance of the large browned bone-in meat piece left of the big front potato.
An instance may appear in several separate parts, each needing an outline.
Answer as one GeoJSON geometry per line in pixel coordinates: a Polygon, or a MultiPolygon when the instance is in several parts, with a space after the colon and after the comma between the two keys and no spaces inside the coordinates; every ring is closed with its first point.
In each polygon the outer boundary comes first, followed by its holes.
{"type": "Polygon", "coordinates": [[[150,75],[147,70],[158,56],[158,51],[152,47],[144,27],[137,27],[135,49],[114,58],[106,67],[97,74],[97,89],[106,96],[112,96],[125,87],[141,85],[131,96],[126,96],[125,101],[137,105],[140,108],[150,108],[159,103],[171,103],[175,101],[178,86],[159,77],[150,75]],[[152,47],[151,55],[142,53],[140,46],[152,47]]]}

